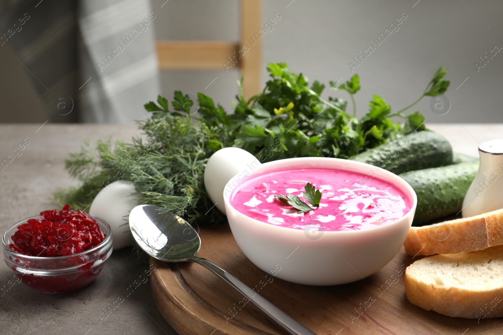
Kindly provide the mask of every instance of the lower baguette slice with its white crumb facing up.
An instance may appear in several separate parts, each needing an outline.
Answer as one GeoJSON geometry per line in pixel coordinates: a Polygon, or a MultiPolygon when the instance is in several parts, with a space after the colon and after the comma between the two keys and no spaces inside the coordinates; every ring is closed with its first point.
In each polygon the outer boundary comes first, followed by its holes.
{"type": "Polygon", "coordinates": [[[503,316],[503,246],[415,261],[405,270],[405,293],[414,305],[448,316],[503,316]]]}

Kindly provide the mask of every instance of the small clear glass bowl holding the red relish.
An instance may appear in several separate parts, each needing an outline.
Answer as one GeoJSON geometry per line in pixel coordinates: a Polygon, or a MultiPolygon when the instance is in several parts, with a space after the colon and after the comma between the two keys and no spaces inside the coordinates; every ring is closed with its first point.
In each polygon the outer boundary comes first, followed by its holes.
{"type": "Polygon", "coordinates": [[[18,227],[31,218],[40,219],[40,215],[19,221],[2,237],[4,260],[23,283],[40,292],[67,293],[86,286],[100,274],[113,247],[112,230],[107,222],[93,216],[105,234],[105,239],[96,247],[68,256],[33,257],[8,247],[18,227]]]}

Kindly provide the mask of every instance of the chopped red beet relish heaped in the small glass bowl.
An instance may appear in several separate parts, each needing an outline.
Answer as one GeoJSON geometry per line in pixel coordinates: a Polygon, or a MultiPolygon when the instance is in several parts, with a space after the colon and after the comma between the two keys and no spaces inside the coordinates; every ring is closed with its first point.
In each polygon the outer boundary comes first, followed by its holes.
{"type": "Polygon", "coordinates": [[[105,235],[98,222],[88,213],[69,209],[40,212],[40,219],[31,218],[18,227],[9,248],[35,257],[58,257],[81,253],[99,245],[105,235]]]}

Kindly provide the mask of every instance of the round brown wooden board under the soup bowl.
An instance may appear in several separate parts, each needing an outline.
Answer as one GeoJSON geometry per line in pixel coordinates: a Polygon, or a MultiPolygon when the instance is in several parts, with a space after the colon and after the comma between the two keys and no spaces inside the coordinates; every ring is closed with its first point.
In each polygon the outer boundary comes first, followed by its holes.
{"type": "MultiPolygon", "coordinates": [[[[237,246],[228,225],[204,228],[198,256],[207,258],[317,335],[501,334],[503,318],[463,319],[426,311],[405,297],[404,269],[420,257],[403,247],[378,273],[337,286],[293,284],[260,270],[237,246]],[[269,275],[266,278],[266,275],[269,275]]],[[[181,335],[285,334],[253,303],[204,267],[150,260],[152,294],[164,318],[181,335]],[[244,307],[243,307],[244,305],[244,307]]],[[[327,265],[328,266],[328,265],[327,265]]],[[[480,306],[482,307],[482,306],[480,306]]],[[[483,314],[481,314],[483,316],[483,314]]]]}

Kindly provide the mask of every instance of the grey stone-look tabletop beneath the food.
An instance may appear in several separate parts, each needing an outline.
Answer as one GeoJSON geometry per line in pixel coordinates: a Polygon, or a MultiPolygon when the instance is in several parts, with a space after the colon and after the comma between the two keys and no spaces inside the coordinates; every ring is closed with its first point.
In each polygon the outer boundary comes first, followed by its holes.
{"type": "MultiPolygon", "coordinates": [[[[112,136],[129,141],[140,135],[136,126],[0,125],[0,162],[25,139],[28,146],[0,170],[0,233],[15,222],[57,205],[49,200],[59,186],[75,185],[63,169],[68,153],[84,140],[112,136]]],[[[503,137],[503,125],[429,125],[446,136],[457,152],[478,156],[478,145],[503,137]]],[[[14,273],[0,264],[0,333],[2,334],[176,334],[157,310],[150,283],[105,313],[147,268],[135,264],[128,249],[115,251],[104,272],[85,288],[66,294],[45,294],[23,283],[10,287],[14,273]],[[107,316],[108,315],[108,316],[107,316]]]]}

